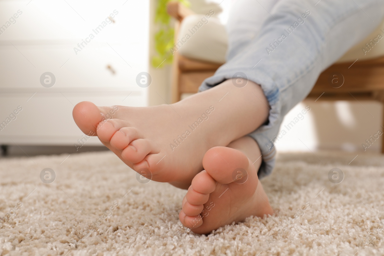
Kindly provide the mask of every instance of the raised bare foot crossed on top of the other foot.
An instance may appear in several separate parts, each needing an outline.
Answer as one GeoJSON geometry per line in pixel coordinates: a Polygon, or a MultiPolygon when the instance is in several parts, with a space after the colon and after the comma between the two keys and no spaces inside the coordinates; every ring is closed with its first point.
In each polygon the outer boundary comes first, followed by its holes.
{"type": "Polygon", "coordinates": [[[97,107],[80,102],[73,118],[85,134],[97,135],[144,177],[187,189],[203,170],[205,152],[257,129],[268,116],[267,105],[257,84],[248,81],[237,88],[227,80],[171,105],[97,107]]]}

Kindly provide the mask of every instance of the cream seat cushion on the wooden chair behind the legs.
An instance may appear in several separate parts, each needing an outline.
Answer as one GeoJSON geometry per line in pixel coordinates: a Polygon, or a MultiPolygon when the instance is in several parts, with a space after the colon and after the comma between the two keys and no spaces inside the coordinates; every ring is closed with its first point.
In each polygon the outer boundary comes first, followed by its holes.
{"type": "MultiPolygon", "coordinates": [[[[362,50],[363,47],[369,50],[366,44],[377,38],[377,35],[384,36],[381,28],[384,28],[384,21],[367,38],[351,48],[338,62],[355,61],[356,59],[360,61],[384,56],[384,38],[365,55],[362,50]]],[[[179,46],[176,46],[174,50],[179,51],[182,56],[219,64],[225,63],[228,47],[227,31],[217,18],[207,18],[201,14],[186,17],[180,25],[179,39],[176,43],[179,46]],[[194,29],[192,30],[192,28],[194,29]]]]}

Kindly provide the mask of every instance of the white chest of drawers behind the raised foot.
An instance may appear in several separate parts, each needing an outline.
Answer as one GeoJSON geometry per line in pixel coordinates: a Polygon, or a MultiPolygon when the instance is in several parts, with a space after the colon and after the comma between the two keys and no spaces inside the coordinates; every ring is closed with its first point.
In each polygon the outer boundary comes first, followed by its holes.
{"type": "Polygon", "coordinates": [[[0,144],[73,145],[80,101],[147,106],[148,0],[28,1],[0,1],[0,144]]]}

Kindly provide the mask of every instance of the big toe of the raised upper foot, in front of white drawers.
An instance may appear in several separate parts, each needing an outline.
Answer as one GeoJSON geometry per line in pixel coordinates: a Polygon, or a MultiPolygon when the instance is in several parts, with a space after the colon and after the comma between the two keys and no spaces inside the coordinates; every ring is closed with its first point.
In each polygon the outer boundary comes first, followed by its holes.
{"type": "Polygon", "coordinates": [[[76,125],[87,135],[96,136],[96,127],[103,121],[99,108],[89,101],[74,106],[72,116],[76,125]]]}

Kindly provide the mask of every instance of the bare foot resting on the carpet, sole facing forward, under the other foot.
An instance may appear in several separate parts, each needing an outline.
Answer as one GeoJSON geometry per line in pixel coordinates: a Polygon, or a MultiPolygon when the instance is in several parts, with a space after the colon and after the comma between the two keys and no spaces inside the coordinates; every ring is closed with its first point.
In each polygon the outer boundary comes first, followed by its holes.
{"type": "Polygon", "coordinates": [[[179,213],[181,223],[206,234],[249,216],[272,215],[273,209],[252,162],[237,149],[214,147],[204,155],[204,171],[192,180],[179,213]]]}

